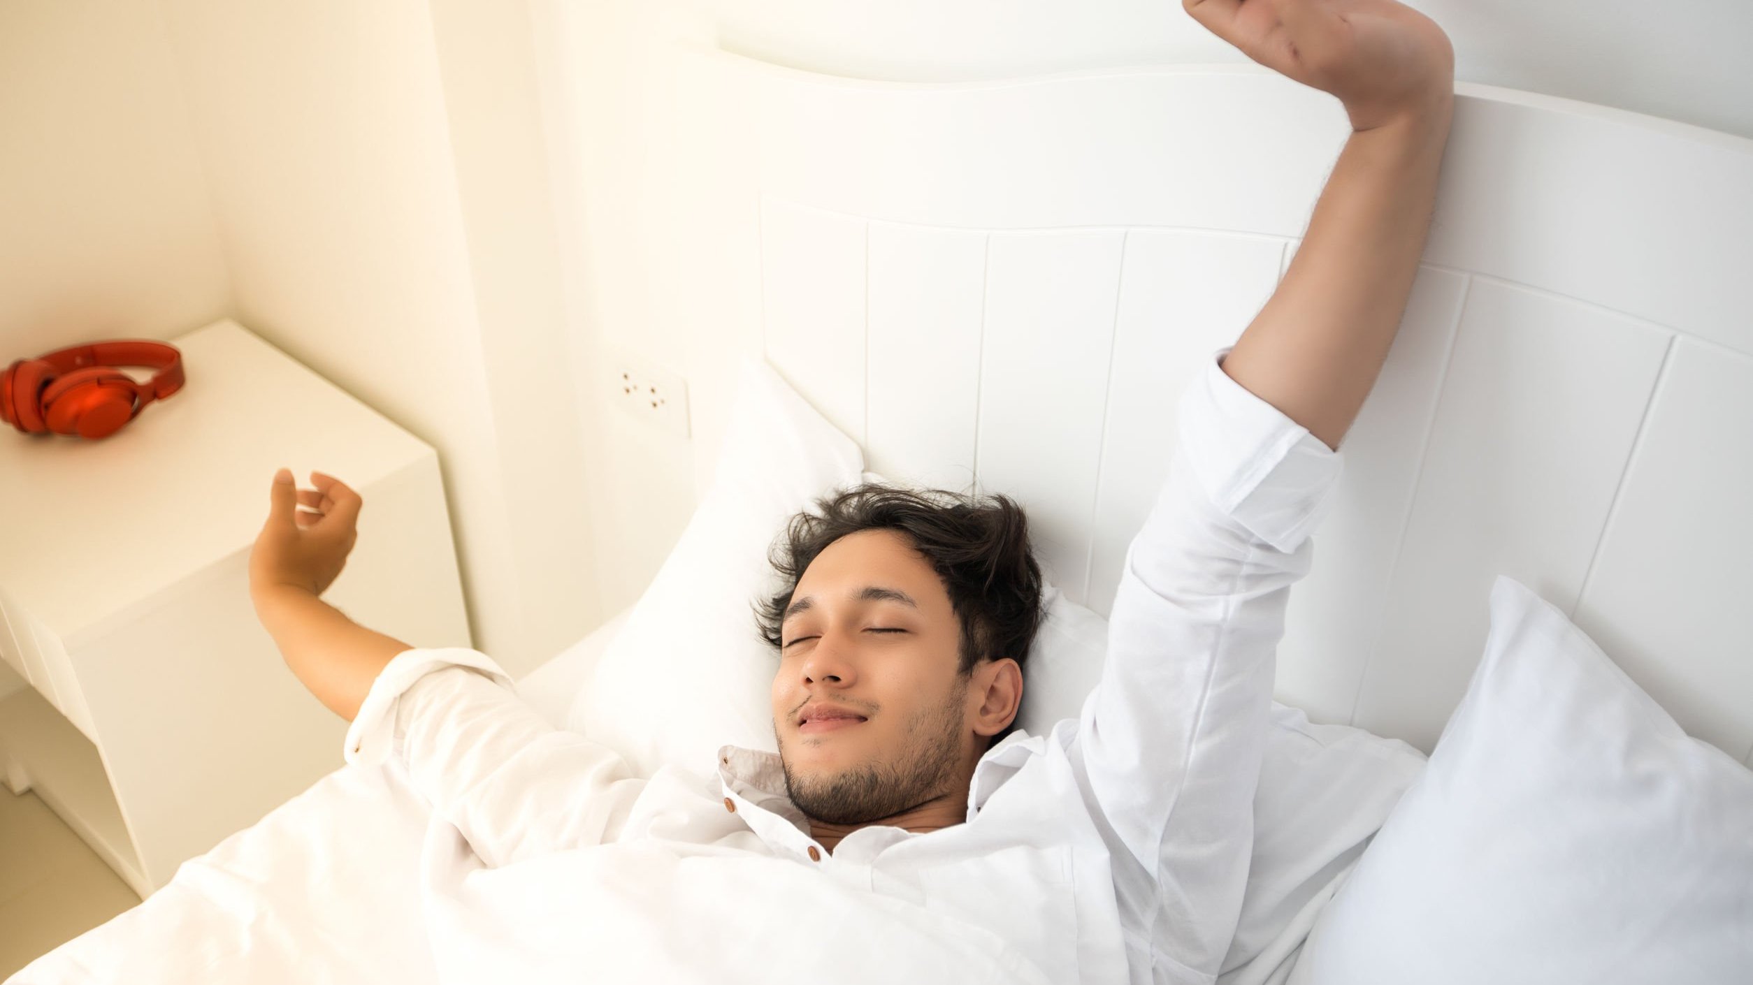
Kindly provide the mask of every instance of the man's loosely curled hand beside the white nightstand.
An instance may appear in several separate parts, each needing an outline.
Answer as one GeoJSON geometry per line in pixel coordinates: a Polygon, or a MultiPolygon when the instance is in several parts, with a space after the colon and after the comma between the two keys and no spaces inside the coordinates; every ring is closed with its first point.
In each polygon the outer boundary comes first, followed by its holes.
{"type": "Polygon", "coordinates": [[[345,482],[321,471],[310,473],[310,484],[316,489],[298,489],[291,470],[273,473],[268,522],[249,552],[252,596],[282,585],[321,596],[347,564],[365,501],[345,482]],[[296,510],[298,505],[316,512],[296,510]]]}

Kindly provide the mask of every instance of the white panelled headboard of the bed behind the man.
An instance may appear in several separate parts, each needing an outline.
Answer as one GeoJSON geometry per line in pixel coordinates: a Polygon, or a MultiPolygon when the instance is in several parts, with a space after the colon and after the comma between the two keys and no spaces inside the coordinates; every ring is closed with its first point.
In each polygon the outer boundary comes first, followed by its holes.
{"type": "MultiPolygon", "coordinates": [[[[1227,65],[894,84],[685,49],[673,81],[638,249],[689,338],[696,471],[764,352],[869,468],[1020,498],[1106,613],[1175,400],[1288,265],[1339,103],[1227,65]]],[[[1430,748],[1504,573],[1753,761],[1753,142],[1457,89],[1278,698],[1430,748]]]]}

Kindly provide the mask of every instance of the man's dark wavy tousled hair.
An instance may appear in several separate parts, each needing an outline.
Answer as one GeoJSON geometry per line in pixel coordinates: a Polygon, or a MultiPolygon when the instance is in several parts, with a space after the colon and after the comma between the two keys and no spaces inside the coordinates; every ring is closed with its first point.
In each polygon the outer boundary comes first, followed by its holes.
{"type": "MultiPolygon", "coordinates": [[[[961,677],[996,657],[1017,661],[1027,677],[1029,645],[1041,626],[1041,566],[1029,547],[1029,519],[1015,500],[866,482],[824,496],[815,507],[791,517],[768,550],[785,587],[756,601],[756,624],[775,650],[784,643],[785,608],[810,563],[848,533],[892,529],[926,556],[950,596],[962,627],[961,677]]],[[[1015,729],[1011,720],[992,745],[1015,729]]]]}

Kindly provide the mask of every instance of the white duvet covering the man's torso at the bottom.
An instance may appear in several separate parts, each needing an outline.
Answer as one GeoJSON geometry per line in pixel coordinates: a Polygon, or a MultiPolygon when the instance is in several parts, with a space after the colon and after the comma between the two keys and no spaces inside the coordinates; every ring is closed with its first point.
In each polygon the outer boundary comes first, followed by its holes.
{"type": "Polygon", "coordinates": [[[349,766],[25,967],[68,981],[1041,981],[987,931],[782,859],[635,841],[487,869],[400,761],[349,766]],[[726,906],[759,885],[784,917],[726,906]]]}

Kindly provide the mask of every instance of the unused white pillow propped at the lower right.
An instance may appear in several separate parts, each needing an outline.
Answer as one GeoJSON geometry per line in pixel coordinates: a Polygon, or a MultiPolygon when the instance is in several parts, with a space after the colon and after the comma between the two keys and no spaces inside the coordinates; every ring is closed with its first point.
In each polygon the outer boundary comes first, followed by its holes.
{"type": "Polygon", "coordinates": [[[1753,981],[1753,773],[1499,577],[1466,698],[1290,981],[1753,981]]]}

